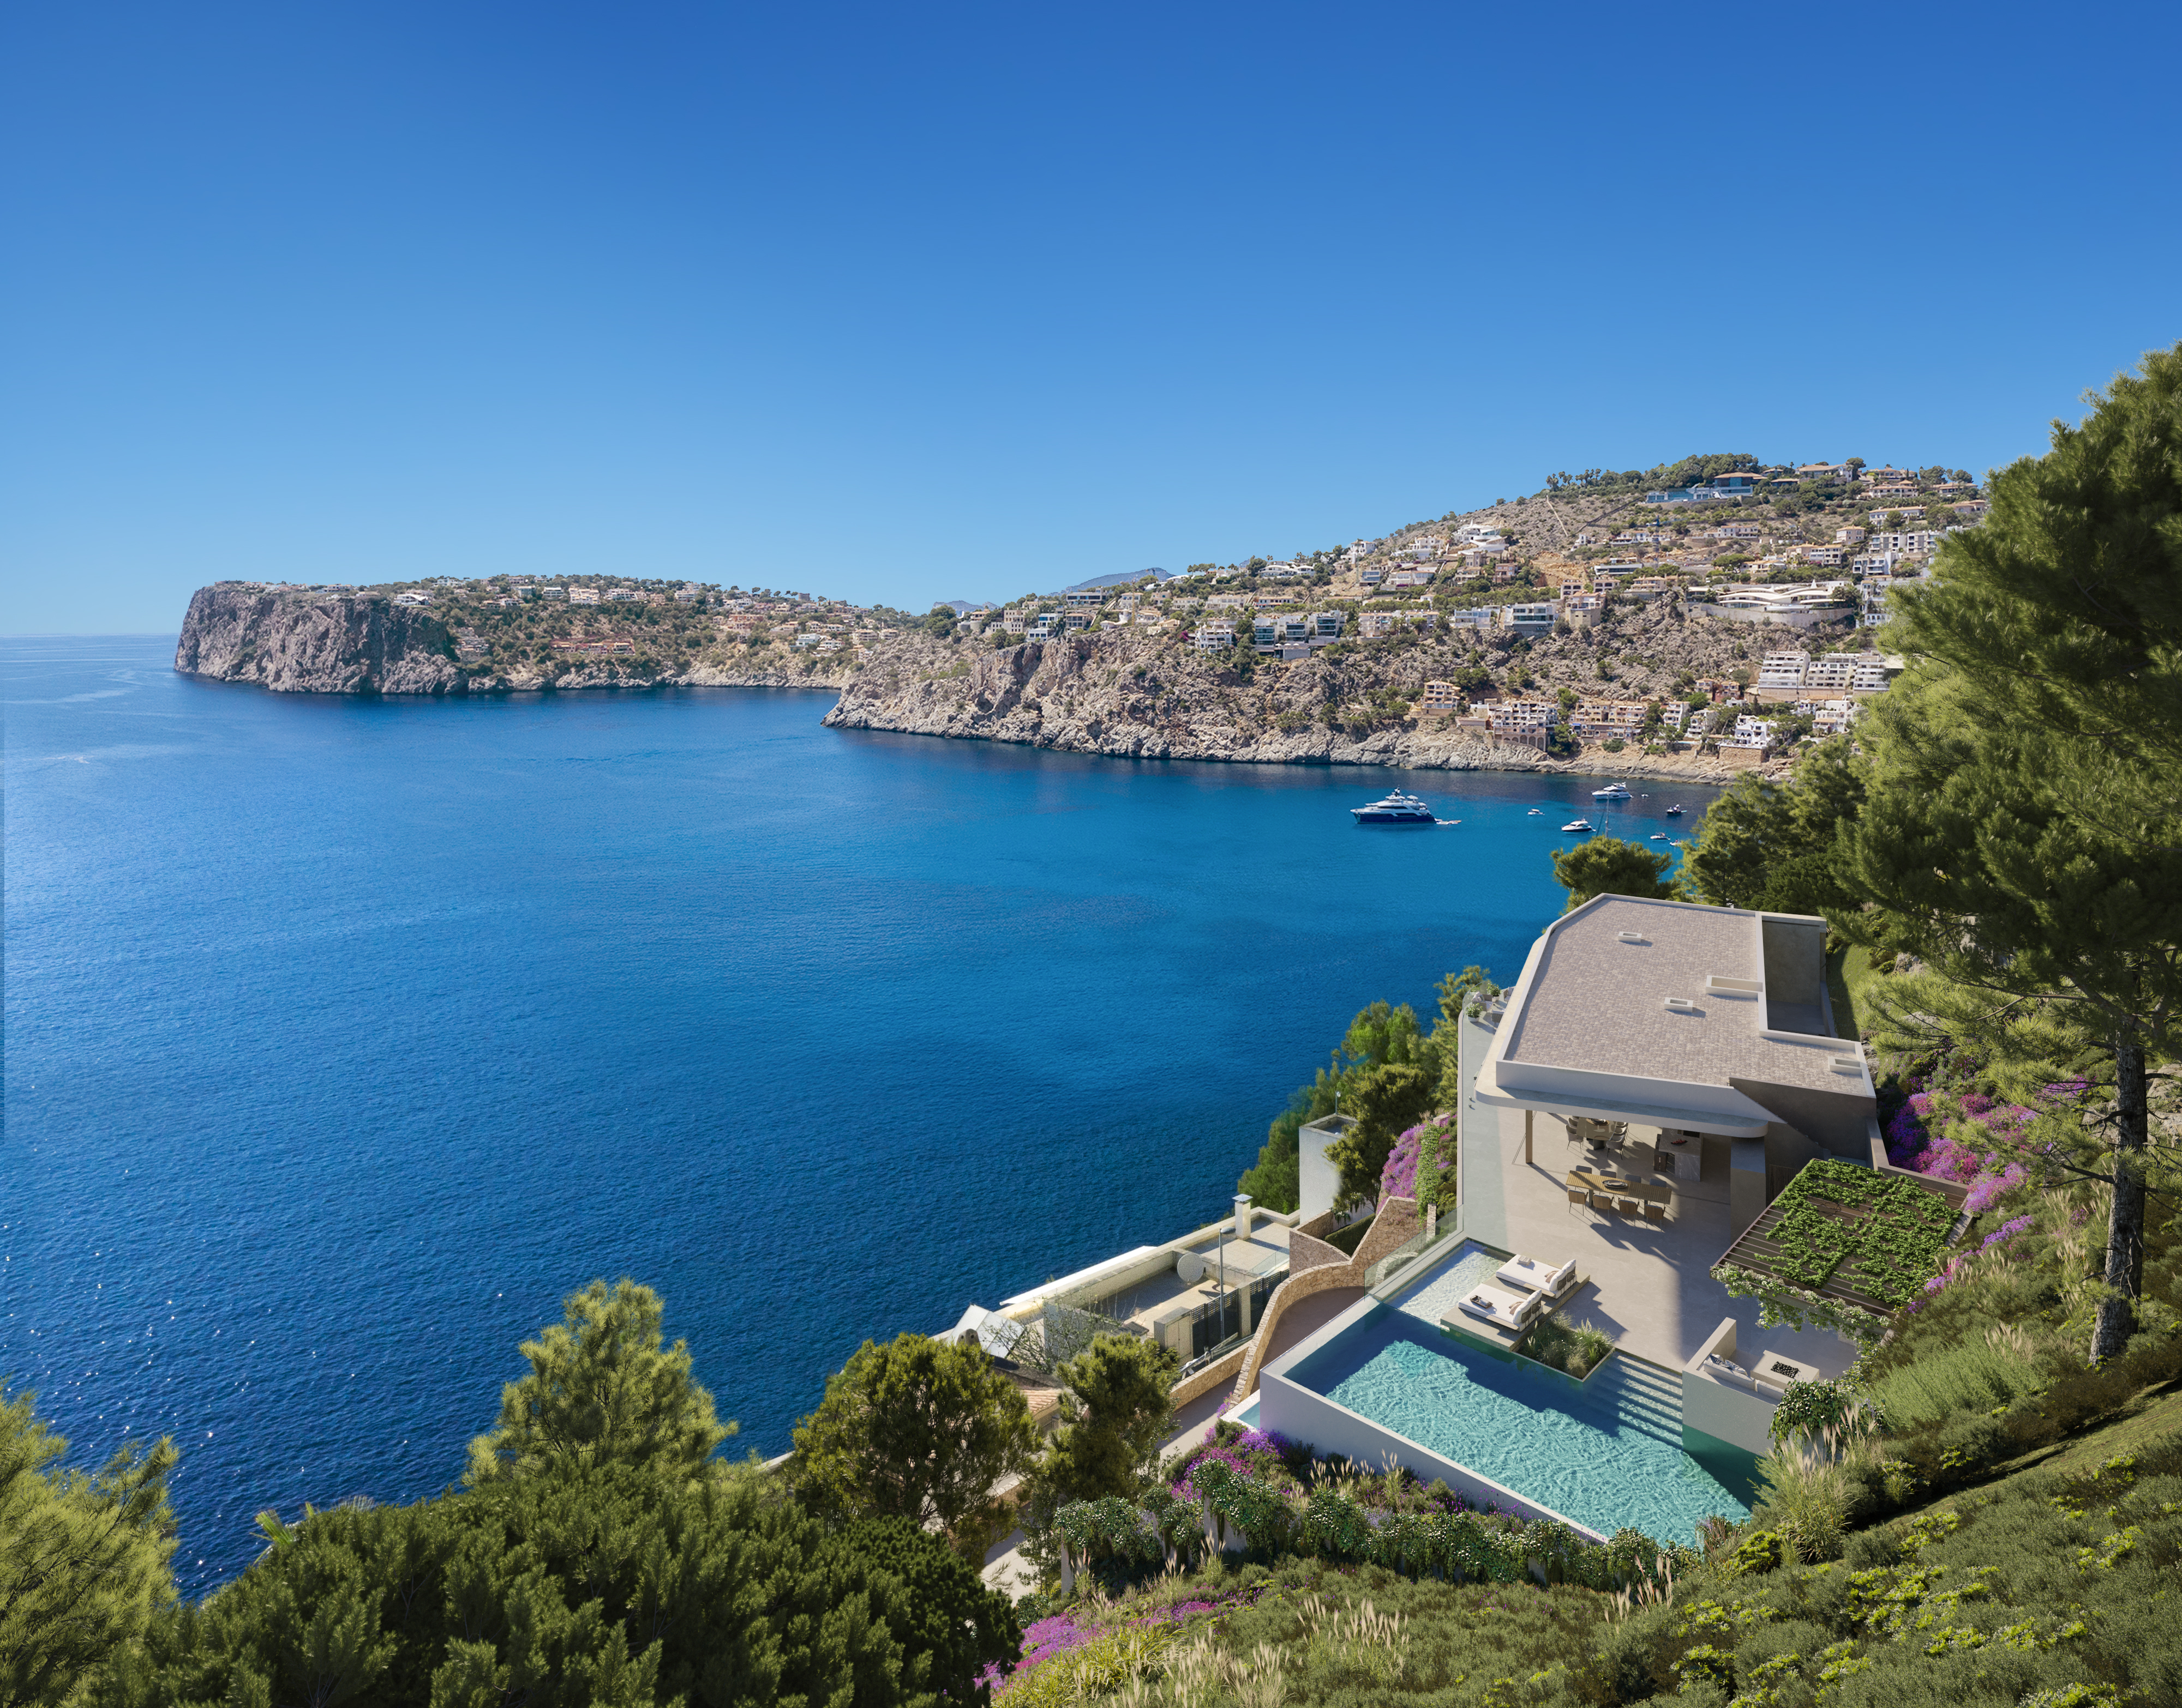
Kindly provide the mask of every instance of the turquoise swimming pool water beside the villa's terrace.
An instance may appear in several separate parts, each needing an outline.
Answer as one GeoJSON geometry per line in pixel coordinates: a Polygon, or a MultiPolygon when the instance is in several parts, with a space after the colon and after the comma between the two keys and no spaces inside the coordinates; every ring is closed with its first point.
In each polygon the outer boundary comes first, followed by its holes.
{"type": "Polygon", "coordinates": [[[1685,1448],[1676,1372],[1617,1352],[1578,1385],[1438,1326],[1499,1263],[1479,1246],[1458,1252],[1290,1379],[1602,1536],[1689,1544],[1700,1518],[1748,1518],[1757,1459],[1711,1438],[1702,1459],[1685,1448]]]}

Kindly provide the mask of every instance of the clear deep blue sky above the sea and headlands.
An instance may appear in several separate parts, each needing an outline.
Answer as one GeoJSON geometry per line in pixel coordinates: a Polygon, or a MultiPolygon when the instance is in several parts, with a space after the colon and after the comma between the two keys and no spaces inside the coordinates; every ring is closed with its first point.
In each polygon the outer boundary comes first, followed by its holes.
{"type": "Polygon", "coordinates": [[[2171,0],[4,31],[9,633],[220,576],[923,606],[1700,449],[1983,471],[2182,338],[2171,0]]]}

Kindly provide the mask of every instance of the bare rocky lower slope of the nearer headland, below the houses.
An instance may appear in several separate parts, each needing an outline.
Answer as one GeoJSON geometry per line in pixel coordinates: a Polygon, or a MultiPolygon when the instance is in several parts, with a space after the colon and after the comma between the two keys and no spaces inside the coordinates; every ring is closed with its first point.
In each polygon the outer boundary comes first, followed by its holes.
{"type": "MultiPolygon", "coordinates": [[[[1189,648],[1180,624],[1106,628],[991,650],[978,641],[903,635],[882,646],[827,713],[829,729],[890,729],[1023,742],[1137,759],[1237,759],[1318,766],[1420,766],[1726,781],[1719,759],[1584,748],[1556,759],[1514,742],[1394,711],[1431,678],[1484,665],[1527,672],[1525,694],[1569,687],[1584,698],[1671,696],[1695,676],[1726,676],[1778,648],[1839,639],[1730,622],[1658,602],[1617,611],[1602,628],[1543,637],[1516,652],[1495,633],[1351,641],[1296,663],[1259,661],[1248,681],[1233,654],[1189,648]]],[[[1687,691],[1687,689],[1685,689],[1687,691]]]]}

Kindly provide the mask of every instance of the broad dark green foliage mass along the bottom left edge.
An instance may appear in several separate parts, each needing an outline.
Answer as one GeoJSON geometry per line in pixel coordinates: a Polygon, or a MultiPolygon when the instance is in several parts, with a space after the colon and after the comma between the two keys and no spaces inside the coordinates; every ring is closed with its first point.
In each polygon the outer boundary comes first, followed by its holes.
{"type": "Polygon", "coordinates": [[[927,1688],[927,1627],[757,1475],[565,1466],[284,1529],[157,1616],[105,1704],[884,1704],[927,1688]]]}

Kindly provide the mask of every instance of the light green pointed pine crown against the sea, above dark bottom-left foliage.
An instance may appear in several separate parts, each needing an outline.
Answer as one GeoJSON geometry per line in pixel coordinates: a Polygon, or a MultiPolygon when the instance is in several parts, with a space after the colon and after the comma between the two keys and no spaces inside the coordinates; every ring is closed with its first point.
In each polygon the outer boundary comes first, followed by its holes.
{"type": "Polygon", "coordinates": [[[530,1374],[502,1390],[500,1427],[469,1444],[469,1481],[567,1464],[696,1477],[738,1427],[690,1381],[687,1344],[666,1346],[659,1294],[594,1280],[565,1307],[565,1322],[521,1344],[530,1374]]]}

